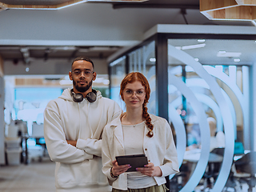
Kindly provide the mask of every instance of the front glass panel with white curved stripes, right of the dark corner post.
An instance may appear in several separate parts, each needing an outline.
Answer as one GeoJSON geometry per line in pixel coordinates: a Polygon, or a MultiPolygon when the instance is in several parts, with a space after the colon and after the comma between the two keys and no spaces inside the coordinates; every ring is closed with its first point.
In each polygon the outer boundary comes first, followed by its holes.
{"type": "MultiPolygon", "coordinates": [[[[186,170],[181,191],[207,186],[222,191],[236,155],[244,153],[235,146],[250,145],[243,135],[249,131],[249,67],[234,65],[240,60],[239,48],[230,51],[233,41],[200,41],[168,40],[169,120],[181,171],[186,170]],[[209,54],[216,56],[209,60],[209,54]]],[[[241,49],[254,46],[254,41],[236,42],[241,49]]]]}

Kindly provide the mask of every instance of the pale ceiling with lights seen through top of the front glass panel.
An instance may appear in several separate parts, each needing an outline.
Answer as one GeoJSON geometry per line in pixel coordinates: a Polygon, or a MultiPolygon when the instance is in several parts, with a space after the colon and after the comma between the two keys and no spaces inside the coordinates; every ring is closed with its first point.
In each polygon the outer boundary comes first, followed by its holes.
{"type": "MultiPolygon", "coordinates": [[[[256,61],[254,40],[206,39],[198,42],[198,39],[170,39],[168,45],[185,51],[203,65],[251,66],[256,61]]],[[[172,65],[183,64],[171,52],[168,62],[172,65]]]]}

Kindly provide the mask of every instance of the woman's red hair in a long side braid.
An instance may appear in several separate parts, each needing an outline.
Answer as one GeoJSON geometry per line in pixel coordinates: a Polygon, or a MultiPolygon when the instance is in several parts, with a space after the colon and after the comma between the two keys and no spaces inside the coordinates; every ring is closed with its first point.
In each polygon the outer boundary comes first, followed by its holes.
{"type": "Polygon", "coordinates": [[[146,126],[149,128],[149,132],[146,135],[152,138],[154,126],[151,123],[150,114],[147,112],[147,107],[146,107],[146,104],[149,102],[149,99],[150,99],[150,84],[147,81],[146,77],[139,72],[132,72],[130,74],[127,74],[126,77],[122,79],[121,86],[120,86],[120,95],[122,100],[124,100],[123,91],[125,90],[127,83],[132,83],[136,81],[142,82],[142,86],[145,87],[146,95],[142,105],[142,118],[146,120],[146,126]]]}

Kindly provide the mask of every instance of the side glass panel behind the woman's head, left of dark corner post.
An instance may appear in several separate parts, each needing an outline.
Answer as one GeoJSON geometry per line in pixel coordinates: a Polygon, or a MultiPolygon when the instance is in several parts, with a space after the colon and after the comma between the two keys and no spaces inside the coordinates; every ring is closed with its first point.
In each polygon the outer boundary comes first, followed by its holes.
{"type": "Polygon", "coordinates": [[[148,112],[150,114],[156,114],[156,102],[155,102],[155,53],[154,42],[150,42],[145,46],[138,47],[138,49],[130,51],[126,55],[110,62],[110,98],[118,102],[125,109],[125,104],[119,96],[120,83],[126,76],[126,69],[130,72],[140,72],[144,74],[150,83],[150,100],[147,104],[148,112]]]}

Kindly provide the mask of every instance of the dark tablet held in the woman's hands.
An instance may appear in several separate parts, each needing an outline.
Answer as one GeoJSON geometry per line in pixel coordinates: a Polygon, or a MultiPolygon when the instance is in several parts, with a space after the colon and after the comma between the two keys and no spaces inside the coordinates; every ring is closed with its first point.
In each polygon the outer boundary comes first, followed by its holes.
{"type": "Polygon", "coordinates": [[[145,154],[123,155],[116,156],[115,158],[119,166],[127,164],[131,166],[130,169],[126,170],[126,172],[136,171],[137,167],[144,167],[148,164],[145,154]]]}

